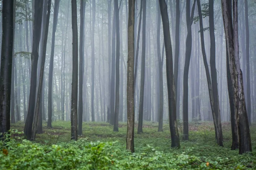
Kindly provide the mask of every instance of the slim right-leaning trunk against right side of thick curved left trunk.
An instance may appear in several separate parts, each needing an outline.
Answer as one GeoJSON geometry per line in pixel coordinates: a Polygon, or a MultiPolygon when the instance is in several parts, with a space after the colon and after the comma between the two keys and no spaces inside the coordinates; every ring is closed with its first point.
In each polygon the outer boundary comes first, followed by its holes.
{"type": "Polygon", "coordinates": [[[40,76],[39,76],[39,83],[38,83],[38,92],[36,98],[36,105],[35,105],[35,116],[33,120],[33,128],[32,128],[32,137],[31,140],[35,140],[36,128],[38,124],[38,115],[39,109],[41,105],[41,96],[42,96],[42,89],[43,89],[43,81],[44,81],[44,65],[45,65],[45,57],[46,57],[46,47],[47,47],[47,38],[48,38],[48,30],[49,30],[49,20],[50,20],[50,13],[51,13],[51,0],[48,0],[47,3],[47,19],[46,19],[46,27],[45,33],[43,37],[43,51],[42,51],[42,59],[41,59],[41,68],[40,68],[40,76]]]}

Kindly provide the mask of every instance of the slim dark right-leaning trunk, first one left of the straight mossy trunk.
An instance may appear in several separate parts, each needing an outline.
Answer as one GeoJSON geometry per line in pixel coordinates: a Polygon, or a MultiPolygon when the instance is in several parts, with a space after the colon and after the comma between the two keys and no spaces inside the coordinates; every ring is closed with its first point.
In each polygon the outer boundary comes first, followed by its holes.
{"type": "Polygon", "coordinates": [[[49,61],[49,77],[48,77],[48,122],[47,127],[52,127],[52,74],[53,74],[53,60],[54,60],[54,49],[55,49],[55,33],[58,23],[58,10],[60,0],[54,1],[54,13],[53,13],[53,26],[52,26],[52,47],[51,56],[49,61]]]}

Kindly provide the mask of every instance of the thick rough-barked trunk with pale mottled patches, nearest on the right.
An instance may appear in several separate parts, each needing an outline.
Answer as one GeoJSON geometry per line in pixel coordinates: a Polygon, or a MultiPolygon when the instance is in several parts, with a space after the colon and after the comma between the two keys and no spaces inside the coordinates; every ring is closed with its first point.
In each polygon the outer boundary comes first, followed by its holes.
{"type": "Polygon", "coordinates": [[[239,132],[239,154],[252,151],[250,127],[244,99],[243,77],[239,62],[237,0],[221,0],[222,17],[226,36],[227,57],[233,84],[236,121],[239,132]],[[233,11],[233,21],[232,21],[233,11]]]}

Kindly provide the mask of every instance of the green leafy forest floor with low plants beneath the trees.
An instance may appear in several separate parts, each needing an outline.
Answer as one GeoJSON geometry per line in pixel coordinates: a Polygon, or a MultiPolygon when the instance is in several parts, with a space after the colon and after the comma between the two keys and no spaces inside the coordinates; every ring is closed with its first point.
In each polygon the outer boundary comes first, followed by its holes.
{"type": "MultiPolygon", "coordinates": [[[[11,125],[23,131],[24,122],[11,125]]],[[[70,142],[70,122],[52,122],[36,142],[23,139],[12,132],[5,143],[0,142],[0,169],[256,169],[256,124],[250,127],[253,154],[239,155],[230,150],[231,125],[222,123],[224,147],[215,141],[212,122],[190,122],[189,141],[182,140],[179,125],[180,149],[171,148],[169,125],[157,132],[158,123],[143,122],[143,133],[135,125],[135,153],[126,150],[126,123],[119,123],[119,132],[105,122],[83,122],[83,135],[70,142]]]]}

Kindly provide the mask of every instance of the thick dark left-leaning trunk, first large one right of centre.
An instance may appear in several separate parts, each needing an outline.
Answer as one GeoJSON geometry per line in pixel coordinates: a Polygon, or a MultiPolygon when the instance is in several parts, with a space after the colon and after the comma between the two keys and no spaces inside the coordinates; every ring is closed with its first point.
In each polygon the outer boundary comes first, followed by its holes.
{"type": "Polygon", "coordinates": [[[180,147],[180,138],[176,119],[175,80],[173,75],[172,42],[170,35],[169,17],[165,0],[159,0],[163,23],[163,37],[166,49],[166,78],[169,107],[169,127],[171,132],[172,147],[180,147]]]}

